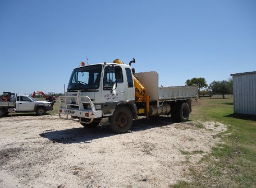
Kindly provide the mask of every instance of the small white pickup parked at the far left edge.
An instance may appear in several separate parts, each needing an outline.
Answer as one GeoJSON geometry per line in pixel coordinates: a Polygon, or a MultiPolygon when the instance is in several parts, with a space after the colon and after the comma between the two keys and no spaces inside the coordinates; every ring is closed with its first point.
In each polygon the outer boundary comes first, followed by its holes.
{"type": "Polygon", "coordinates": [[[0,100],[0,117],[5,117],[10,112],[35,112],[36,115],[44,115],[46,111],[52,110],[51,102],[37,101],[29,95],[9,92],[7,100],[0,100]]]}

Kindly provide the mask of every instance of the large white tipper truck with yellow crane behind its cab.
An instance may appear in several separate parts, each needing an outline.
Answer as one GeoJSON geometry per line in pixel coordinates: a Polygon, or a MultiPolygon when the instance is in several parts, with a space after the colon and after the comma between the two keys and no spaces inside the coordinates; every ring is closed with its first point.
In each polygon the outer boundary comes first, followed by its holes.
{"type": "Polygon", "coordinates": [[[170,115],[185,122],[197,86],[159,87],[158,73],[135,73],[131,63],[84,65],[73,70],[65,96],[59,97],[59,117],[78,120],[84,127],[108,123],[115,133],[125,133],[133,119],[170,115]],[[65,115],[65,116],[62,116],[65,115]]]}

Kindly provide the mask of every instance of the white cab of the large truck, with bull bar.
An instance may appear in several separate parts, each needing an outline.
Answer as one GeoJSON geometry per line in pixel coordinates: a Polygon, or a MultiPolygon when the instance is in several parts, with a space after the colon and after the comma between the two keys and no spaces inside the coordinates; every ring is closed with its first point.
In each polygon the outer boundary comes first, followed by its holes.
{"type": "Polygon", "coordinates": [[[65,96],[59,97],[59,115],[78,118],[85,127],[99,125],[124,103],[136,118],[135,89],[129,65],[99,63],[72,72],[65,96]]]}

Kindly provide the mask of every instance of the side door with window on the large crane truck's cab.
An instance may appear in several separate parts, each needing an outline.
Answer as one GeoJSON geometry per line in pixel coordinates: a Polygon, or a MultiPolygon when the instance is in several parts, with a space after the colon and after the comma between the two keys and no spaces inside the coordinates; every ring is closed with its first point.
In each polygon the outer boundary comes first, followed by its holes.
{"type": "Polygon", "coordinates": [[[102,97],[104,103],[126,100],[126,86],[124,85],[121,66],[110,65],[105,67],[102,97]]]}

